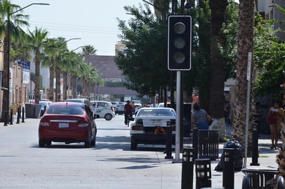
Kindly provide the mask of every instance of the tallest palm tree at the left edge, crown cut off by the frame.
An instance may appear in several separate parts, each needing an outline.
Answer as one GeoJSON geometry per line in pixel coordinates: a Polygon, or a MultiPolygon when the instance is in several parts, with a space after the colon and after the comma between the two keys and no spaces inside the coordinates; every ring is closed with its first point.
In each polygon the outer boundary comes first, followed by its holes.
{"type": "MultiPolygon", "coordinates": [[[[3,57],[3,88],[8,88],[8,80],[9,80],[9,69],[10,69],[10,37],[15,37],[15,39],[21,39],[25,36],[24,30],[20,28],[20,26],[28,26],[28,15],[20,14],[16,10],[19,10],[20,6],[10,3],[8,0],[0,1],[0,35],[4,35],[4,57],[3,57]],[[9,29],[8,29],[9,28],[9,29]],[[8,66],[9,65],[9,66],[8,66]]],[[[2,103],[2,113],[1,113],[1,122],[7,121],[6,116],[8,116],[9,111],[6,110],[7,107],[10,106],[10,101],[8,101],[7,97],[9,97],[9,91],[3,90],[3,103],[2,103]],[[7,112],[8,111],[8,112],[7,112]]],[[[8,108],[9,109],[9,108],[8,108]]]]}

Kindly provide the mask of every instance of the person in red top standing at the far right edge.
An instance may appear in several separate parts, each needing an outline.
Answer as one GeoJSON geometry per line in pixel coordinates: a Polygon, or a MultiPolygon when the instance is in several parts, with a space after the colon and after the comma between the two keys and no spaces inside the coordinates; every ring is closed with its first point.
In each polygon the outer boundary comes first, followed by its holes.
{"type": "Polygon", "coordinates": [[[271,121],[269,123],[270,124],[270,132],[271,132],[270,149],[277,150],[277,142],[278,142],[278,139],[280,136],[280,130],[281,130],[282,125],[283,125],[282,117],[284,115],[284,109],[280,108],[279,103],[275,102],[273,107],[271,107],[269,109],[268,115],[270,115],[270,114],[272,114],[275,117],[275,121],[271,121]]]}

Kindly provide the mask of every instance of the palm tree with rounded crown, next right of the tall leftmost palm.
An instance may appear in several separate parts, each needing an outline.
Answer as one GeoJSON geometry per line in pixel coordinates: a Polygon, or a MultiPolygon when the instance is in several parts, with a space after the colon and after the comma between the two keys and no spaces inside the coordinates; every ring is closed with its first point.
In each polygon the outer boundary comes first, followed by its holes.
{"type": "Polygon", "coordinates": [[[26,46],[35,53],[35,103],[39,103],[39,68],[41,66],[41,55],[46,46],[48,32],[42,28],[35,28],[34,32],[29,30],[30,35],[26,46]]]}

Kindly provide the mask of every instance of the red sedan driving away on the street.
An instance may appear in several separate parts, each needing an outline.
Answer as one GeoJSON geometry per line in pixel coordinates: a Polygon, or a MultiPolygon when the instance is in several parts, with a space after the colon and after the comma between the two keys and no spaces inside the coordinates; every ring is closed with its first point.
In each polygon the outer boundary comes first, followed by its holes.
{"type": "Polygon", "coordinates": [[[39,121],[39,147],[51,142],[80,143],[95,146],[97,127],[90,107],[84,103],[50,103],[39,121]]]}

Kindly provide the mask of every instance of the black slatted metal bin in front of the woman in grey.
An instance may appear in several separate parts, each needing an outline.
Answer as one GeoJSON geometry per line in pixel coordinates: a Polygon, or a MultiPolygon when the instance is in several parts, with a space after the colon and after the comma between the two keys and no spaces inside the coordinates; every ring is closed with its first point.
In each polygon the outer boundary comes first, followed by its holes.
{"type": "Polygon", "coordinates": [[[219,158],[219,131],[220,130],[199,130],[199,159],[219,158]]]}

